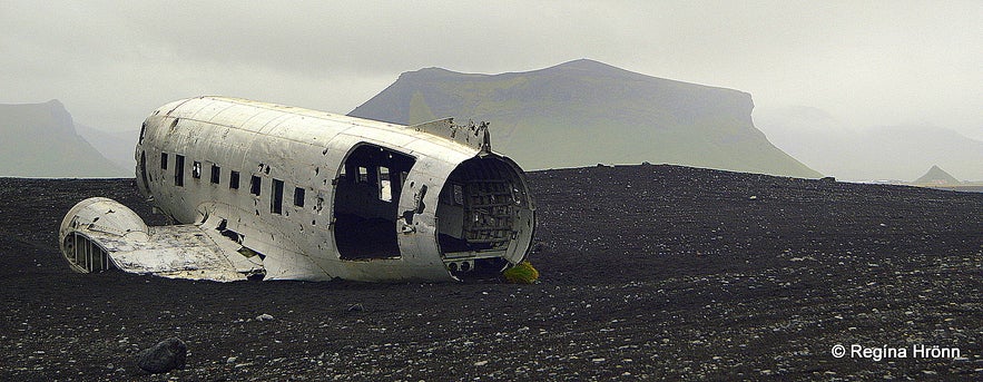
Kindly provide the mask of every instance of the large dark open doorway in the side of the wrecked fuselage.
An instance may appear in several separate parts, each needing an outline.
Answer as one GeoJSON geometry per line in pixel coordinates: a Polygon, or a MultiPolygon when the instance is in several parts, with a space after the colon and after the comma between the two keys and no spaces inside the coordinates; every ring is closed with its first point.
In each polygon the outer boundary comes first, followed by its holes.
{"type": "Polygon", "coordinates": [[[399,258],[396,215],[413,157],[375,145],[353,149],[334,193],[334,236],[342,259],[399,258]]]}

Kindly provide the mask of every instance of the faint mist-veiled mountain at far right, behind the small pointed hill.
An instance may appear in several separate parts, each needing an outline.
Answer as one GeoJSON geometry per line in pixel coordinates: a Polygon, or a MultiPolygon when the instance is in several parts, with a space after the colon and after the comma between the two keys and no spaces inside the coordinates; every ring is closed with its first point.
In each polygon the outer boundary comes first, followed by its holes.
{"type": "Polygon", "coordinates": [[[808,107],[761,108],[755,124],[786,153],[842,179],[912,179],[936,164],[960,178],[983,179],[983,141],[944,127],[861,129],[808,107]]]}

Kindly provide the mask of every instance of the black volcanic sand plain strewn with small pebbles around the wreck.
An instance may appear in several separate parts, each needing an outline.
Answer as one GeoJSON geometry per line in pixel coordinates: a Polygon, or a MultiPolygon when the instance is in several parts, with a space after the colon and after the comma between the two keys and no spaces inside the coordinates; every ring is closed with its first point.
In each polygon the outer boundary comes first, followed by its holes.
{"type": "Polygon", "coordinates": [[[983,194],[674,166],[530,174],[538,285],[69,271],[63,214],[131,179],[0,178],[6,380],[983,376],[983,194]],[[364,310],[350,310],[361,304],[364,310]],[[258,321],[261,314],[274,320],[258,321]],[[169,336],[188,364],[147,375],[169,336]],[[905,347],[906,359],[830,349],[905,347]],[[961,357],[914,359],[911,346],[961,357]]]}

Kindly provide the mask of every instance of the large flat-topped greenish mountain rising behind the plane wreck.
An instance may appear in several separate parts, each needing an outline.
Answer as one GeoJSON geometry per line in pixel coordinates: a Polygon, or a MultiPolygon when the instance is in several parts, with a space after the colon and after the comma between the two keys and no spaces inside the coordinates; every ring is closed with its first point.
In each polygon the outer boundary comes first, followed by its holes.
{"type": "Polygon", "coordinates": [[[753,108],[746,92],[576,60],[500,75],[404,72],[350,115],[489,121],[492,147],[531,169],[650,161],[818,177],[755,128],[753,108]]]}

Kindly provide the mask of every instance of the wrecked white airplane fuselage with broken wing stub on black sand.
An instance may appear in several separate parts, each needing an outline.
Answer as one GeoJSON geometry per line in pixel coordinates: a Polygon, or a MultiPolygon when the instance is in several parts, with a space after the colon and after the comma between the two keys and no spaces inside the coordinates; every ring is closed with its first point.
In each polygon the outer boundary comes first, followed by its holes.
{"type": "Polygon", "coordinates": [[[144,123],[137,185],[178,225],[106,198],[65,217],[78,272],[234,281],[453,281],[525,258],[535,207],[485,124],[402,126],[198,97],[144,123]]]}

